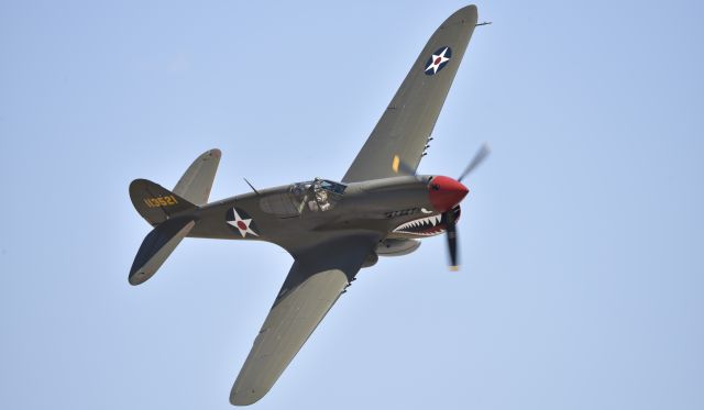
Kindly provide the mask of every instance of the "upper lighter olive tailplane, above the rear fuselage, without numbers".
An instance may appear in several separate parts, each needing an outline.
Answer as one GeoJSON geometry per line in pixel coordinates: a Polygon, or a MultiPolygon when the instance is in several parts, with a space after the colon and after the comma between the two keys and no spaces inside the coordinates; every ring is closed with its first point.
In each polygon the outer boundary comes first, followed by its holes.
{"type": "Polygon", "coordinates": [[[195,204],[208,203],[212,180],[216,178],[218,164],[220,164],[220,149],[216,148],[196,158],[174,187],[174,193],[195,204]]]}

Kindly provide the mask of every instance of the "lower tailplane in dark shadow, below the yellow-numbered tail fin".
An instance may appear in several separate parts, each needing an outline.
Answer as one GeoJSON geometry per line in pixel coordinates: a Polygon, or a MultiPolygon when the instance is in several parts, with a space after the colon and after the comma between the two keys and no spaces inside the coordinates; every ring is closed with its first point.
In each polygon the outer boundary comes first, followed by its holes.
{"type": "Polygon", "coordinates": [[[130,284],[140,285],[154,276],[195,225],[196,222],[191,219],[170,219],[150,232],[134,257],[130,269],[130,284]]]}

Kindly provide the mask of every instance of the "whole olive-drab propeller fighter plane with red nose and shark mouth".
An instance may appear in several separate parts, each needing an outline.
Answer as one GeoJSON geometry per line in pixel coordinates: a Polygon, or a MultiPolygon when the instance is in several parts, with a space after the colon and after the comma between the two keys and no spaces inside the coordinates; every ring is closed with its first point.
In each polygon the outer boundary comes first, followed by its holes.
{"type": "Polygon", "coordinates": [[[152,226],[129,282],[150,279],[184,237],[265,241],[294,264],[230,392],[234,406],[266,395],[355,280],[380,256],[409,254],[421,239],[447,234],[450,267],[459,266],[457,223],[469,189],[462,180],[488,154],[482,146],[457,178],[416,173],[458,71],[477,9],[468,5],[432,34],[340,181],[315,178],[208,202],[219,149],[200,155],[168,190],[130,184],[134,208],[152,226]]]}

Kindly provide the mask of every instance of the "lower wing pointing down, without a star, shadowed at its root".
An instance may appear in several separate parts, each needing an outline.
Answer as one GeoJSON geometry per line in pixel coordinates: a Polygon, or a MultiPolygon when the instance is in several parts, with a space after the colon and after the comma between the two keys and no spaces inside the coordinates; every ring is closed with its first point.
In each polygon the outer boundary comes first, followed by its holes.
{"type": "Polygon", "coordinates": [[[295,262],[230,392],[234,406],[272,388],[374,250],[377,234],[344,236],[292,253],[295,262]]]}

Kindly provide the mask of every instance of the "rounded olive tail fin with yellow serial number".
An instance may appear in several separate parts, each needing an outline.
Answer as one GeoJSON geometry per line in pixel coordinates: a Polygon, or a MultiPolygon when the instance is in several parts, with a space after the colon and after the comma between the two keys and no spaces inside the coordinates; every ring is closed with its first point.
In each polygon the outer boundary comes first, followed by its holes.
{"type": "Polygon", "coordinates": [[[163,223],[177,213],[198,209],[177,193],[146,179],[135,179],[130,184],[130,198],[134,209],[152,226],[163,223]]]}

